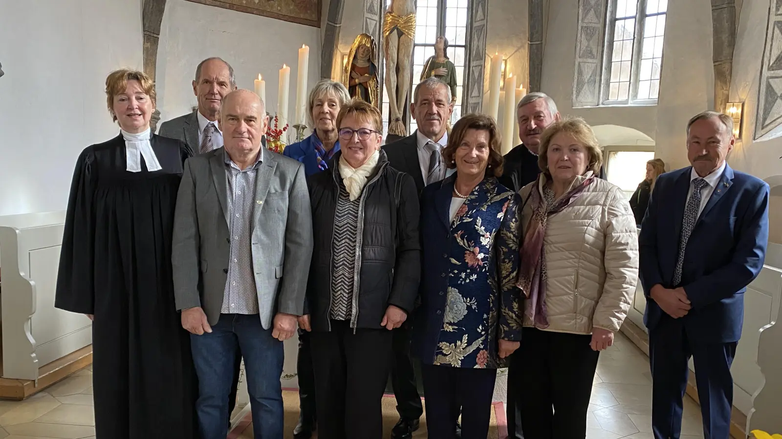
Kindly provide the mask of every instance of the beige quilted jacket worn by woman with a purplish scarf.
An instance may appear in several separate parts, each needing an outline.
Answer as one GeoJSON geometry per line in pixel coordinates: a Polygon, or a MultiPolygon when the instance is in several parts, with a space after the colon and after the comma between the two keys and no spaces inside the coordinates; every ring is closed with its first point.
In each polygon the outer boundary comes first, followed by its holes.
{"type": "MultiPolygon", "coordinates": [[[[589,174],[587,174],[589,175],[589,174]]],[[[579,184],[585,177],[577,177],[579,184]]],[[[519,191],[528,201],[536,182],[519,191]]],[[[522,209],[522,230],[532,217],[522,209]]],[[[638,279],[638,237],[626,195],[595,178],[561,212],[548,218],[546,255],[547,330],[592,334],[593,327],[616,332],[630,310],[638,279]]],[[[529,318],[524,326],[532,327],[529,318]]]]}

